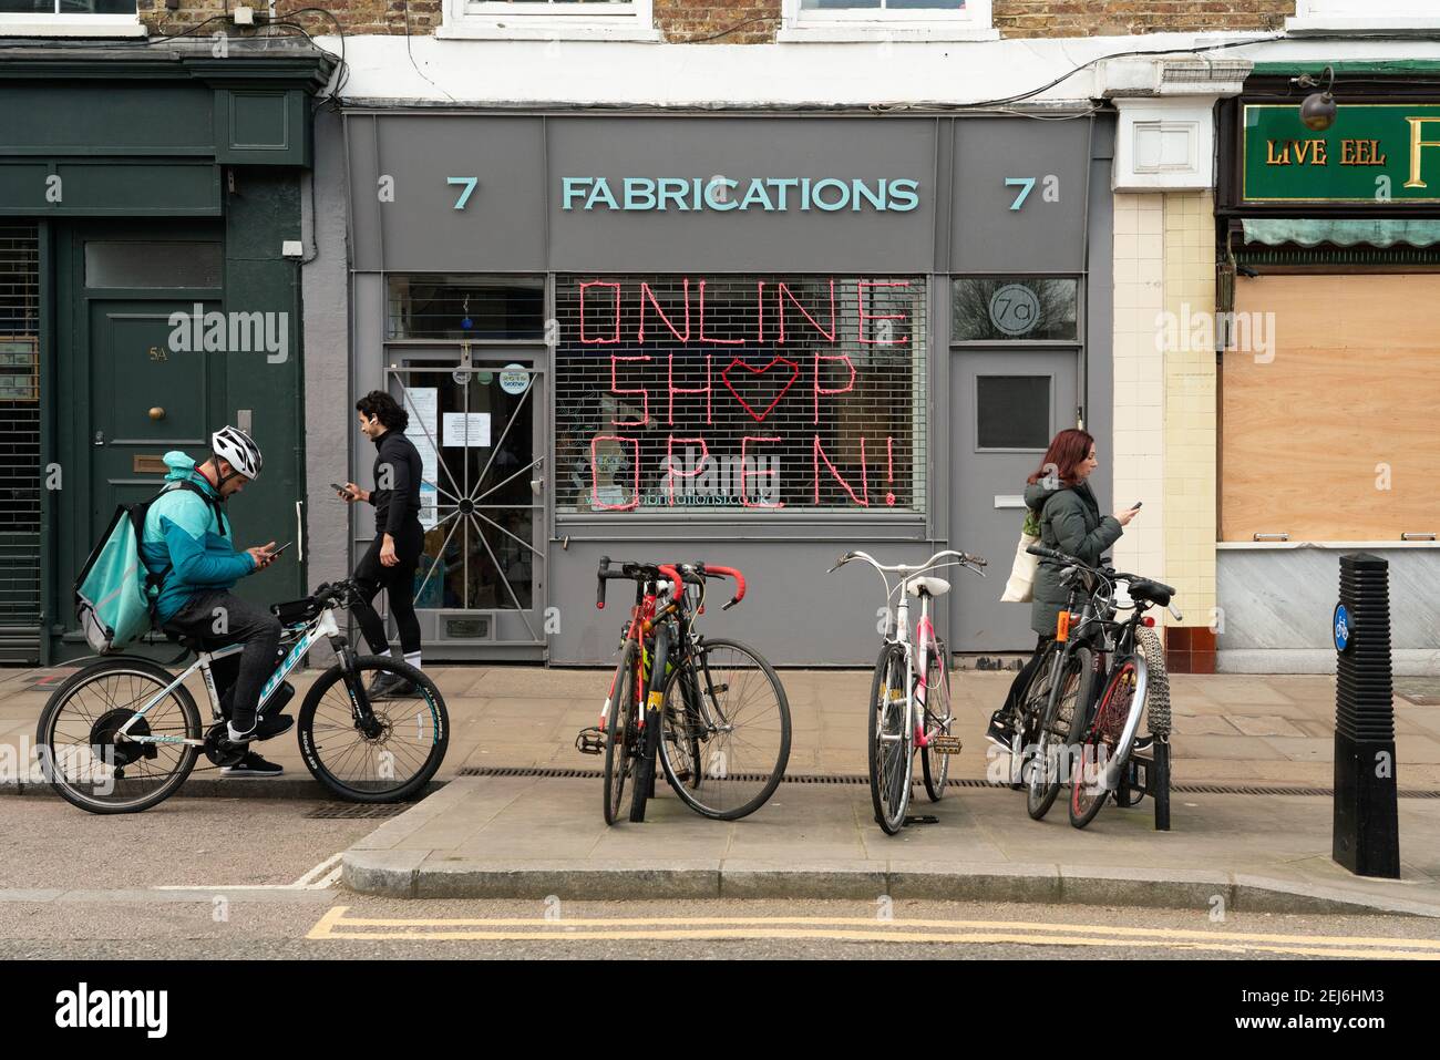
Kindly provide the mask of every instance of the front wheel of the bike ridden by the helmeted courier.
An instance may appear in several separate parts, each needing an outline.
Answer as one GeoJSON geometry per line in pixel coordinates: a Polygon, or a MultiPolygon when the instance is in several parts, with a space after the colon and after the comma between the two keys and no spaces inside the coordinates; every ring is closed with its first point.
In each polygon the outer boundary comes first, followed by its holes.
{"type": "MultiPolygon", "coordinates": [[[[305,760],[310,775],[347,802],[405,802],[413,798],[435,776],[449,746],[449,714],[445,710],[445,697],[441,696],[441,690],[435,687],[425,671],[389,655],[360,655],[356,658],[353,675],[347,674],[338,664],[330,667],[305,693],[295,729],[300,755],[305,760]],[[350,713],[354,704],[353,683],[382,673],[405,678],[420,694],[408,699],[370,700],[370,709],[377,719],[382,719],[384,730],[380,736],[369,737],[357,730],[353,713],[350,713]],[[325,696],[336,684],[341,686],[344,699],[325,703],[325,696]],[[396,722],[399,711],[396,709],[405,707],[408,713],[410,706],[419,707],[416,710],[416,740],[413,750],[406,749],[405,765],[416,762],[416,759],[419,765],[402,778],[395,769],[399,755],[387,745],[399,735],[399,723],[396,722]],[[317,714],[321,713],[323,707],[330,711],[328,717],[321,714],[318,722],[324,740],[317,737],[317,714]],[[428,729],[426,722],[429,723],[428,729]],[[336,736],[331,736],[331,732],[336,736]],[[359,739],[337,750],[337,740],[344,733],[354,733],[359,739]],[[328,749],[327,742],[330,743],[328,749]],[[369,771],[373,776],[361,781],[343,779],[337,775],[337,769],[353,760],[357,747],[367,747],[367,750],[360,752],[359,760],[374,765],[374,769],[369,771]],[[386,753],[390,755],[389,759],[384,758],[386,753]],[[372,755],[373,758],[370,758],[372,755]],[[393,773],[393,776],[386,776],[386,773],[393,773]],[[393,783],[387,783],[389,781],[393,783]],[[357,786],[359,783],[366,786],[357,786]]],[[[397,745],[397,747],[400,746],[397,745]]]]}

